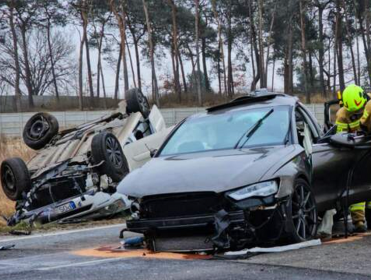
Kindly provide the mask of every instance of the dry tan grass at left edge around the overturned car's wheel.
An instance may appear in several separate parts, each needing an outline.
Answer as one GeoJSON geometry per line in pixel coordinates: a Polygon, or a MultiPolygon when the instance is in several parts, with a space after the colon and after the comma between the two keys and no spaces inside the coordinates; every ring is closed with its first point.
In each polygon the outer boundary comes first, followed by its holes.
{"type": "MultiPolygon", "coordinates": [[[[21,140],[10,140],[0,136],[0,163],[6,158],[19,157],[27,161],[31,158],[33,152],[28,149],[21,140]]],[[[4,195],[0,183],[0,216],[11,215],[14,212],[14,202],[8,200],[4,195]]],[[[0,218],[0,228],[5,222],[0,218]]]]}

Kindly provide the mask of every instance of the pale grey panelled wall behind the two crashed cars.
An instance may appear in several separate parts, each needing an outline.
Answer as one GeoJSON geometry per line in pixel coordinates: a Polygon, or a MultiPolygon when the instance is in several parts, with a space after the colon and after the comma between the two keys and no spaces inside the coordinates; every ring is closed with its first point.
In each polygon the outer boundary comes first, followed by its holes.
{"type": "MultiPolygon", "coordinates": [[[[324,123],[324,105],[322,104],[310,104],[306,105],[313,114],[315,114],[320,125],[324,123]]],[[[191,116],[205,111],[205,108],[176,108],[176,109],[161,109],[161,113],[164,116],[166,125],[176,125],[178,122],[191,116]]],[[[84,122],[95,120],[106,114],[110,114],[111,111],[52,111],[60,127],[74,127],[81,125],[84,122]]],[[[35,113],[7,113],[0,114],[0,134],[5,137],[20,137],[25,123],[35,113]]]]}

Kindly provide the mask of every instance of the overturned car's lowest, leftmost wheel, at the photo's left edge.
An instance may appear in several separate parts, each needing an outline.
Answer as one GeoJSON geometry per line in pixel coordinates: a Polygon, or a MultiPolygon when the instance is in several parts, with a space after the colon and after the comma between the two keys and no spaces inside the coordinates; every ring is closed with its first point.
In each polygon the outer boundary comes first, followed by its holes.
{"type": "Polygon", "coordinates": [[[30,172],[21,158],[8,158],[0,166],[1,186],[5,195],[13,201],[21,200],[30,191],[30,172]]]}

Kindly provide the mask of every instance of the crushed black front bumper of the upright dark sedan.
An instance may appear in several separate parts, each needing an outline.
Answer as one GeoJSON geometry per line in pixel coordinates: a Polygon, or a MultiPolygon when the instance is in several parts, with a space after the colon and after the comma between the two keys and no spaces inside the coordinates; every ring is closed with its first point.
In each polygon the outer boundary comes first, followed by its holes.
{"type": "Polygon", "coordinates": [[[262,244],[282,233],[283,221],[282,209],[276,205],[254,211],[221,210],[188,217],[132,219],[126,225],[127,230],[144,234],[150,250],[179,252],[262,244]]]}

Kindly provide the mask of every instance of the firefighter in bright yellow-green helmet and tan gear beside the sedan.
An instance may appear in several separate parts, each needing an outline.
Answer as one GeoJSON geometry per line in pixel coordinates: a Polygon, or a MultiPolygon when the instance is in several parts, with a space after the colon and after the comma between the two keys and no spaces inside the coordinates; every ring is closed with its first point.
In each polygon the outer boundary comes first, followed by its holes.
{"type": "MultiPolygon", "coordinates": [[[[344,90],[342,101],[343,107],[336,114],[337,133],[359,130],[371,132],[371,100],[363,89],[357,85],[349,85],[344,90]]],[[[367,231],[365,212],[368,215],[368,229],[371,229],[371,202],[367,203],[367,211],[366,202],[350,206],[352,222],[357,233],[367,231]]]]}

